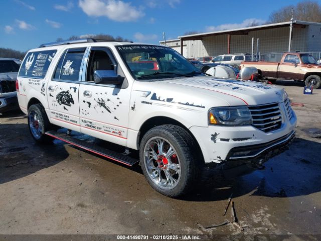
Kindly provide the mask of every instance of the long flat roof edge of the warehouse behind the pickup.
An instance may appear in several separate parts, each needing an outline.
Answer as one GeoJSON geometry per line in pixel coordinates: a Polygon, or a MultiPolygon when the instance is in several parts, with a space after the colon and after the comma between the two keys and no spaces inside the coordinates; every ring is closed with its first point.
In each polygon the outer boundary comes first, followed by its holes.
{"type": "MultiPolygon", "coordinates": [[[[233,34],[233,33],[248,32],[248,31],[255,31],[255,30],[262,30],[262,29],[286,27],[286,26],[289,26],[291,23],[292,22],[289,21],[289,22],[282,22],[282,23],[276,23],[276,24],[266,24],[266,25],[260,25],[260,26],[246,27],[246,28],[240,28],[240,29],[230,29],[230,30],[200,33],[200,34],[183,35],[183,36],[179,36],[178,38],[185,39],[185,40],[186,39],[200,39],[202,37],[207,37],[207,36],[211,36],[211,35],[233,34]]],[[[299,20],[294,20],[293,24],[321,26],[321,23],[305,22],[305,21],[299,21],[299,20]]]]}

